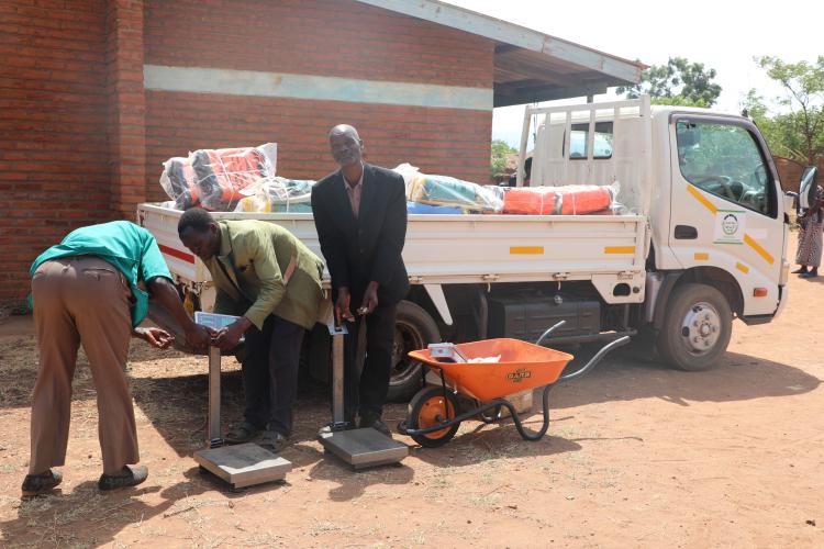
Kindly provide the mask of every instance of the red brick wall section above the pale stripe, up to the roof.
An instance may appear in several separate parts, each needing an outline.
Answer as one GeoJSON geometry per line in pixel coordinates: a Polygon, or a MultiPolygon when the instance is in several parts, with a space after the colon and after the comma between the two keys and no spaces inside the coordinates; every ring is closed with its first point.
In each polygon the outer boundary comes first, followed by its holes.
{"type": "Polygon", "coordinates": [[[354,0],[145,4],[153,65],[492,87],[492,41],[354,0]]]}

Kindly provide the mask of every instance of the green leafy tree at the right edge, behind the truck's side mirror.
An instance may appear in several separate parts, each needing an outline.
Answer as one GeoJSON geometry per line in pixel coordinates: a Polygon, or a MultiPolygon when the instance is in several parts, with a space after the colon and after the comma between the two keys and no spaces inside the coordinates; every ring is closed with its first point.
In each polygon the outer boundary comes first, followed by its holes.
{"type": "Polygon", "coordinates": [[[767,121],[762,98],[750,91],[745,100],[748,109],[754,108],[750,115],[759,128],[765,124],[770,147],[775,146],[783,156],[815,164],[824,155],[824,56],[820,55],[814,64],[784,63],[770,56],[756,57],[755,61],[783,87],[787,94],[777,98],[777,103],[787,112],[767,121]],[[762,120],[759,122],[756,115],[762,120]]]}

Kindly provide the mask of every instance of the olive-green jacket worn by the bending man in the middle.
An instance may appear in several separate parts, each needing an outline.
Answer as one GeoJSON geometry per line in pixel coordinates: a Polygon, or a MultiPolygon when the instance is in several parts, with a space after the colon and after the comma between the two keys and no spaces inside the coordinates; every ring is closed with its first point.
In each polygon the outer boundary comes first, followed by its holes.
{"type": "Polygon", "coordinates": [[[263,221],[221,221],[221,248],[205,262],[214,312],[244,315],[261,329],[275,314],[309,329],[323,298],[323,261],[289,231],[263,221]],[[294,258],[288,283],[283,274],[294,258]]]}

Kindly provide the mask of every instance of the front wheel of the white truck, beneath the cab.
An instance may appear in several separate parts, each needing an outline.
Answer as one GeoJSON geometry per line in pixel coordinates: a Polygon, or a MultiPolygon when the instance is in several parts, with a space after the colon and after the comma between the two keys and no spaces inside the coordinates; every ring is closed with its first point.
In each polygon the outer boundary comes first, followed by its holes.
{"type": "Polygon", "coordinates": [[[669,299],[658,351],[679,370],[708,370],[726,350],[732,329],[733,313],[719,290],[683,284],[669,299]]]}

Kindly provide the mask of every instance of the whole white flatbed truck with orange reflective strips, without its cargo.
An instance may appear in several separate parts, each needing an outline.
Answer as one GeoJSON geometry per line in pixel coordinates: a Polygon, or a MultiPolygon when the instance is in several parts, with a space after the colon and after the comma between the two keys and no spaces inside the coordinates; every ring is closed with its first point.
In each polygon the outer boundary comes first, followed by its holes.
{"type": "MultiPolygon", "coordinates": [[[[789,205],[767,145],[743,116],[650,107],[649,99],[527,108],[517,184],[613,184],[616,215],[410,215],[403,258],[412,289],[399,309],[390,396],[421,383],[407,351],[488,337],[552,345],[652,334],[683,370],[713,366],[737,317],[775,318],[787,303],[789,205]],[[534,132],[534,133],[533,133],[534,132]]],[[[209,272],[177,237],[180,211],[142,204],[181,292],[209,310],[209,272]]],[[[285,226],[321,256],[312,215],[215,213],[285,226]]],[[[157,317],[155,315],[155,317],[157,317]]],[[[307,338],[325,379],[326,337],[307,338]]]]}

